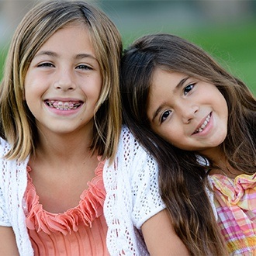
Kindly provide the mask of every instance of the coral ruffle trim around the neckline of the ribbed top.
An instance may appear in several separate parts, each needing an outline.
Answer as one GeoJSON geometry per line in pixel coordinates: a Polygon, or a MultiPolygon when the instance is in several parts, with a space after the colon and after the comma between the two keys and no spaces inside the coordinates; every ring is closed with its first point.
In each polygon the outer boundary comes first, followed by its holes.
{"type": "Polygon", "coordinates": [[[46,234],[61,232],[64,235],[71,234],[72,230],[78,231],[78,226],[81,223],[92,227],[93,220],[103,213],[103,203],[106,198],[102,178],[103,167],[104,162],[99,162],[95,169],[95,178],[88,182],[88,189],[81,193],[78,206],[67,209],[64,213],[49,213],[39,202],[33,180],[29,176],[31,168],[27,166],[28,185],[25,200],[28,213],[26,214],[26,227],[29,230],[36,230],[36,232],[43,230],[46,234]]]}

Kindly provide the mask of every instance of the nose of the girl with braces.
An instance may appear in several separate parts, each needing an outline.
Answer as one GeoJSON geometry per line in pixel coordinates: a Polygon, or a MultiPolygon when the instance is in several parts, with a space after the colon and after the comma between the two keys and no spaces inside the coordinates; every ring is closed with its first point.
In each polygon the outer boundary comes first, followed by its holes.
{"type": "Polygon", "coordinates": [[[54,88],[62,91],[71,91],[75,88],[74,75],[67,68],[57,72],[54,88]]]}

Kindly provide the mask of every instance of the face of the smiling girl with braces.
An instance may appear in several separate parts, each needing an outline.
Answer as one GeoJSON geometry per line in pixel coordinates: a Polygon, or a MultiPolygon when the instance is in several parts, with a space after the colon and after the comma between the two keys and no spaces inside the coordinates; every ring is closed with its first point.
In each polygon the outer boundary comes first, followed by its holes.
{"type": "Polygon", "coordinates": [[[85,25],[57,30],[38,50],[25,78],[25,99],[39,130],[92,130],[102,75],[85,25]]]}

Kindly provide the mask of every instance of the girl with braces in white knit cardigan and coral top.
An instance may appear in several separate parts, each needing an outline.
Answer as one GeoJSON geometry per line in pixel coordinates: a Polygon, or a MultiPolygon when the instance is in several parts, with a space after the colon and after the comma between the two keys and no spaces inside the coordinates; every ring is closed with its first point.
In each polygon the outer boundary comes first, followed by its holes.
{"type": "Polygon", "coordinates": [[[0,254],[170,247],[157,164],[121,126],[121,52],[116,26],[83,1],[42,2],[16,29],[0,95],[0,254]]]}

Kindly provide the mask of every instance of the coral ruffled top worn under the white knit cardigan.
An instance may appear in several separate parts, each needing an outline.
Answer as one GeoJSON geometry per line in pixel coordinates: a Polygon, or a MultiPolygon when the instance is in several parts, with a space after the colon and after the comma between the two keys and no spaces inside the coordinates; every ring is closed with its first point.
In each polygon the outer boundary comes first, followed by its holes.
{"type": "Polygon", "coordinates": [[[32,170],[27,167],[26,227],[35,255],[109,255],[103,215],[106,197],[103,166],[104,163],[100,162],[95,169],[95,178],[81,193],[78,206],[67,209],[65,213],[49,213],[43,209],[29,176],[32,170]]]}

